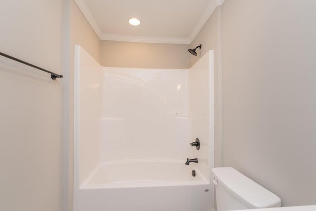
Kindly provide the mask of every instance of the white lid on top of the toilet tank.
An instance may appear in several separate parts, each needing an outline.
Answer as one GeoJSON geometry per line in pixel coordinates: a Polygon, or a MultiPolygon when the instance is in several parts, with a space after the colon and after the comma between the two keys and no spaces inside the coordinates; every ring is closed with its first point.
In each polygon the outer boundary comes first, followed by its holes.
{"type": "Polygon", "coordinates": [[[250,209],[280,207],[281,199],[231,167],[213,168],[218,185],[250,209]]]}

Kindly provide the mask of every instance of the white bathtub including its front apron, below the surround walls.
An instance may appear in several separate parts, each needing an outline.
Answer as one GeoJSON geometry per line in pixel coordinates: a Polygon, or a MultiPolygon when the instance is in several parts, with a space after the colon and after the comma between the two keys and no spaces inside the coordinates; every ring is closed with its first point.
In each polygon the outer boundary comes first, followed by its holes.
{"type": "Polygon", "coordinates": [[[101,164],[75,190],[75,210],[210,211],[213,185],[195,166],[161,159],[101,164]]]}

